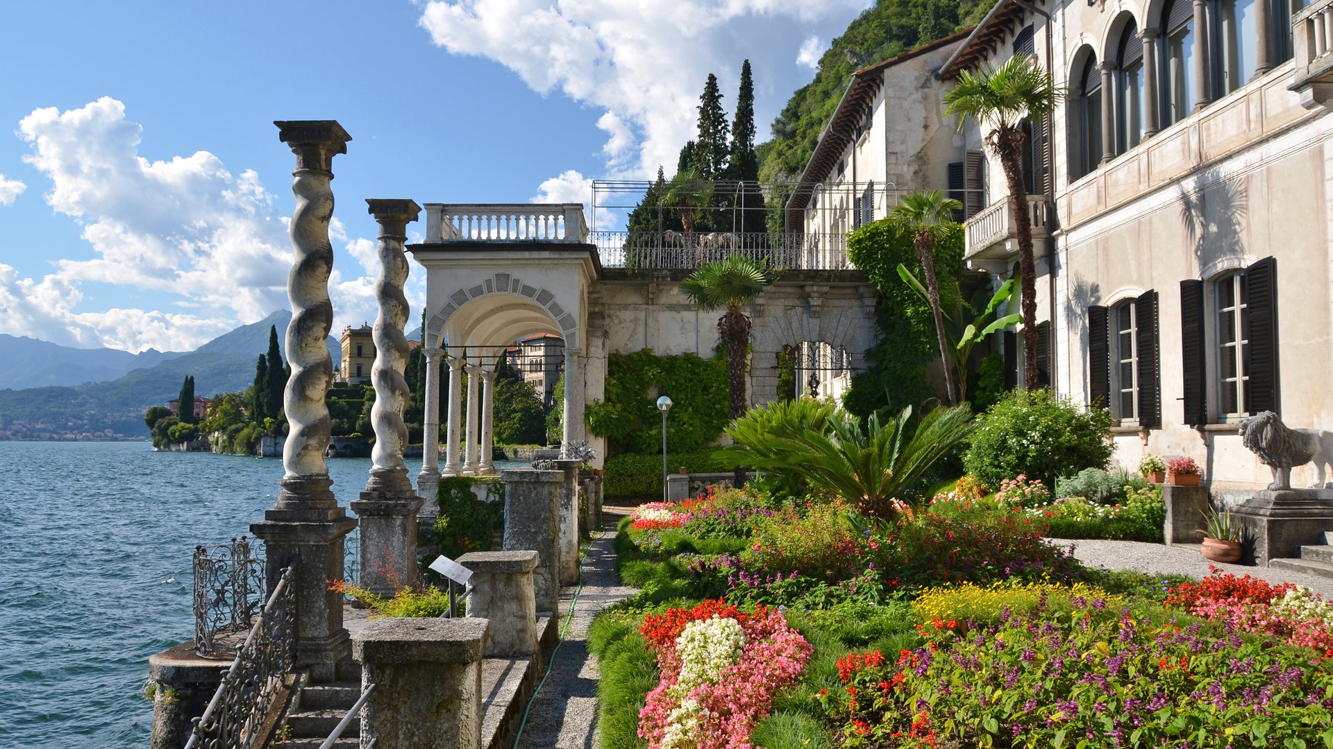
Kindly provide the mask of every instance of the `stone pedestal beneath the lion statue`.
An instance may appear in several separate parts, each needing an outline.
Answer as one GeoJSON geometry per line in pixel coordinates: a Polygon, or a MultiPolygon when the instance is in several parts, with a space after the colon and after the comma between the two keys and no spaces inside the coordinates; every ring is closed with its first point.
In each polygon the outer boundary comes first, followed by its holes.
{"type": "Polygon", "coordinates": [[[1245,526],[1242,562],[1268,566],[1301,556],[1301,546],[1324,542],[1333,530],[1333,489],[1265,489],[1232,508],[1245,526]]]}

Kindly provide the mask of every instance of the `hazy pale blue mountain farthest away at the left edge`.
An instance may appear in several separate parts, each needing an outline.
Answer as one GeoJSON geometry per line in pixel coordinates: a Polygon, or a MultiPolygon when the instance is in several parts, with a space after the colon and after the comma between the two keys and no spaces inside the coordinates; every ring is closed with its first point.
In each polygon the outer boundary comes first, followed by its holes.
{"type": "Polygon", "coordinates": [[[184,353],[69,348],[0,333],[0,389],[104,382],[179,356],[184,353]]]}

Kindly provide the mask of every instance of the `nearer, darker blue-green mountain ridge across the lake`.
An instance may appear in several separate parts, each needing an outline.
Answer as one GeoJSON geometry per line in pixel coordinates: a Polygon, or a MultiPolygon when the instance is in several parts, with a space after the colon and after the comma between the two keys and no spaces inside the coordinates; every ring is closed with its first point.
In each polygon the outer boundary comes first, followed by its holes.
{"type": "MultiPolygon", "coordinates": [[[[147,434],[144,412],[176,397],[187,374],[193,374],[196,392],[204,397],[248,388],[255,381],[255,363],[268,352],[269,327],[277,327],[279,348],[287,356],[285,333],[291,319],[291,312],[275,312],[193,352],[157,355],[157,364],[132,369],[109,381],[0,389],[0,438],[51,438],[107,429],[127,436],[147,434]]],[[[329,356],[337,361],[341,356],[337,340],[329,336],[327,343],[329,356]]],[[[119,360],[112,357],[109,361],[119,360]]]]}

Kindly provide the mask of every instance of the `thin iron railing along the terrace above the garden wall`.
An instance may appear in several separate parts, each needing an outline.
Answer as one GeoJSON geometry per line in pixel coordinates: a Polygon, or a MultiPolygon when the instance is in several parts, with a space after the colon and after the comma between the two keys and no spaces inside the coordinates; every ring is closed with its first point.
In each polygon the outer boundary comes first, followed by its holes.
{"type": "Polygon", "coordinates": [[[772,268],[849,271],[840,237],[768,232],[592,232],[603,268],[629,271],[694,269],[742,255],[772,268]]]}

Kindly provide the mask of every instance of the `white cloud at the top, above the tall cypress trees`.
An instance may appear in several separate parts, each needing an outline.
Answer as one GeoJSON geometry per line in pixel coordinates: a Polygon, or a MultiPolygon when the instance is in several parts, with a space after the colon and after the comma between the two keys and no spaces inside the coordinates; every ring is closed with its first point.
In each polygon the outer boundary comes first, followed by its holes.
{"type": "MultiPolygon", "coordinates": [[[[773,113],[806,80],[790,47],[810,27],[841,31],[866,0],[429,0],[420,25],[457,55],[495,60],[533,91],[603,109],[612,173],[651,179],[693,136],[698,92],[717,73],[729,108],[742,59],[773,113]],[[784,47],[788,44],[790,47],[784,47]],[[766,77],[765,77],[766,76],[766,77]],[[766,83],[758,83],[760,80],[766,83]],[[631,159],[637,139],[637,159],[631,159]]],[[[808,73],[806,73],[808,75],[808,73]]],[[[769,115],[770,116],[770,115],[769,115]]],[[[760,121],[764,121],[762,119],[760,121]]],[[[762,139],[762,135],[761,135],[762,139]]]]}

